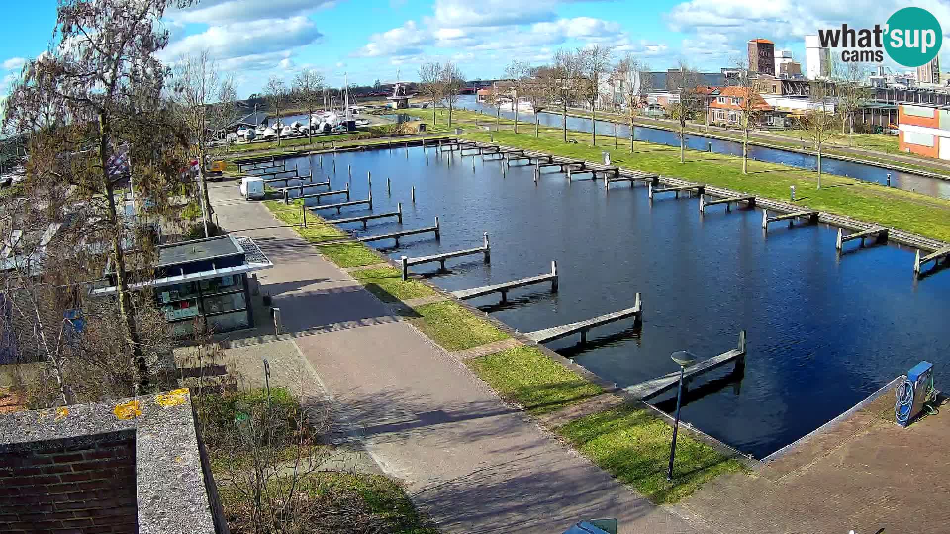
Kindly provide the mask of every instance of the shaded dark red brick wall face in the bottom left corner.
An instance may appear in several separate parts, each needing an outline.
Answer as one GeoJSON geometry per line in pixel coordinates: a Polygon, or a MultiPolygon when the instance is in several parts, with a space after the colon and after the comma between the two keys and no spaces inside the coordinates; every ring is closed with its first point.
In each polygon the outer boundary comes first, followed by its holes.
{"type": "Polygon", "coordinates": [[[0,455],[0,532],[138,532],[135,440],[0,455]]]}

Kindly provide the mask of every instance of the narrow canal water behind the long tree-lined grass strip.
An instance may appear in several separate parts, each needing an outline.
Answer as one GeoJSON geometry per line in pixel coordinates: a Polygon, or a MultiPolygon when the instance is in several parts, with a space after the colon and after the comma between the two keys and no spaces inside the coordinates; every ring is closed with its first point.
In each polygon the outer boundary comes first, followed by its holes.
{"type": "MultiPolygon", "coordinates": [[[[462,97],[460,100],[460,107],[465,107],[466,109],[472,109],[476,111],[484,111],[486,113],[486,124],[494,124],[494,107],[476,102],[475,97],[473,96],[462,97]]],[[[503,111],[502,117],[506,119],[512,119],[514,118],[514,113],[511,111],[503,111]]],[[[533,131],[534,114],[519,113],[518,117],[519,121],[523,120],[526,123],[532,123],[525,124],[523,126],[520,125],[519,127],[524,127],[524,131],[527,132],[533,131]]],[[[538,114],[538,122],[545,126],[561,127],[561,115],[557,113],[542,112],[538,114]]],[[[591,131],[591,123],[592,122],[590,119],[582,119],[580,117],[567,118],[567,128],[569,130],[589,132],[591,131]]],[[[599,135],[613,135],[614,126],[614,123],[597,121],[597,131],[599,135]]],[[[635,129],[637,133],[637,141],[648,141],[650,143],[679,146],[679,137],[675,132],[646,126],[637,126],[635,129]]],[[[617,136],[618,138],[622,139],[630,139],[630,126],[626,124],[617,124],[617,136]]],[[[692,148],[693,150],[707,150],[711,148],[712,152],[717,154],[742,156],[742,143],[736,143],[734,141],[721,141],[718,139],[703,137],[701,135],[687,135],[686,146],[687,148],[692,148]],[[710,144],[712,144],[712,147],[710,147],[710,144]]],[[[817,169],[817,162],[814,156],[800,154],[798,152],[792,152],[789,150],[782,150],[780,148],[750,145],[749,157],[762,162],[783,163],[793,167],[800,167],[810,170],[817,169]]],[[[866,165],[864,163],[845,162],[827,156],[822,158],[822,170],[830,174],[848,176],[864,181],[876,181],[882,184],[887,183],[887,174],[890,173],[892,187],[914,190],[924,195],[930,195],[931,197],[950,199],[950,181],[930,178],[916,173],[895,171],[875,165],[866,165]]]]}

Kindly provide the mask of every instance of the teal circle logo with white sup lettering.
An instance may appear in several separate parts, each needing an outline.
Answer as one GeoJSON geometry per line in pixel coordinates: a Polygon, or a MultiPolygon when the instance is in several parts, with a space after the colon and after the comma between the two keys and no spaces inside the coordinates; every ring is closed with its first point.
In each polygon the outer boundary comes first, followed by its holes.
{"type": "Polygon", "coordinates": [[[921,67],[937,56],[943,31],[928,10],[904,8],[887,19],[884,48],[892,60],[904,67],[921,67]]]}

